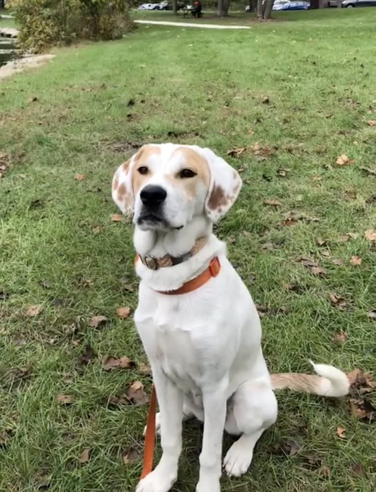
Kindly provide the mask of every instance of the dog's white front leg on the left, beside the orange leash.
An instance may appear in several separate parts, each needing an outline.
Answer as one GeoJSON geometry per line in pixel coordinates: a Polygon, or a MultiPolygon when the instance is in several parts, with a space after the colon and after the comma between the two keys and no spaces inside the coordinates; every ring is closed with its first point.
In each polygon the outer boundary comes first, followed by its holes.
{"type": "Polygon", "coordinates": [[[136,492],[167,492],[178,477],[178,461],[182,452],[183,393],[157,366],[152,364],[160,416],[162,457],[152,473],[136,488],[136,492]]]}

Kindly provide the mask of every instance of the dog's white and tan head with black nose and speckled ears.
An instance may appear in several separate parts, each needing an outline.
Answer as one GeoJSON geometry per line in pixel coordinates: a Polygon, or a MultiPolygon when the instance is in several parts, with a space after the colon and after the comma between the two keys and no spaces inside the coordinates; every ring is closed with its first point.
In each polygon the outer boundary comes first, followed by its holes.
{"type": "Polygon", "coordinates": [[[210,149],[145,145],[114,175],[112,197],[142,230],[181,229],[197,215],[218,222],[242,180],[210,149]]]}

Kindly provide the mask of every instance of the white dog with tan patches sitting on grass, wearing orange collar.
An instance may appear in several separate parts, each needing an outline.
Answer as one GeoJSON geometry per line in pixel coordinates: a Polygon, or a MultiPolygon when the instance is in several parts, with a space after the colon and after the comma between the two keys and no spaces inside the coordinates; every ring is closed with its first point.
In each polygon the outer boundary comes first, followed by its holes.
{"type": "Polygon", "coordinates": [[[146,145],[116,171],[112,196],[133,217],[134,314],[157,391],[162,457],[136,492],[167,492],[177,479],[182,422],[204,422],[196,492],[219,492],[222,435],[228,475],[245,473],[257,440],[277,418],[275,389],[327,397],[348,391],[346,375],[313,365],[316,375],[270,375],[257,310],[212,233],[241,188],[239,174],[209,149],[146,145]]]}

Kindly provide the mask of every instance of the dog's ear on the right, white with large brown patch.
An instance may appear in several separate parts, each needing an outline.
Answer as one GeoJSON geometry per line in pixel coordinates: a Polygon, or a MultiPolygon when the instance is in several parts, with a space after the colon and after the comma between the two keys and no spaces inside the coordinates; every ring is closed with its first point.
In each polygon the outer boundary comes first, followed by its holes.
{"type": "Polygon", "coordinates": [[[235,202],[242,187],[242,180],[239,173],[213,151],[202,149],[202,152],[210,171],[205,211],[210,220],[218,222],[235,202]]]}

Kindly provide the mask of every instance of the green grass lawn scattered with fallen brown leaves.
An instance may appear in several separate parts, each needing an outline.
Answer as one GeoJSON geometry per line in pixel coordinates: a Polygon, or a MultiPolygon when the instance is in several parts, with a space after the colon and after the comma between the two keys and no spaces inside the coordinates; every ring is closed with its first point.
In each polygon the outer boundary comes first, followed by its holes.
{"type": "MultiPolygon", "coordinates": [[[[137,279],[131,229],[111,220],[110,197],[115,169],[142,143],[249,149],[228,156],[244,187],[217,232],[265,307],[272,371],[309,371],[312,358],[376,372],[376,245],[365,238],[376,229],[376,9],[289,18],[250,31],[142,26],[121,41],[56,50],[37,71],[0,82],[1,492],[137,483],[140,462],[122,455],[142,451],[147,408],[114,396],[136,380],[149,392],[150,380],[101,360],[146,362],[131,319],[115,314],[136,307],[137,279]],[[350,163],[337,165],[341,154],[350,163]],[[96,315],[107,322],[89,326],[96,315]],[[82,364],[87,345],[95,355],[82,364]]],[[[376,490],[375,424],[346,400],[278,400],[250,472],[223,477],[223,492],[376,490]]],[[[188,425],[175,492],[194,490],[199,439],[188,425]]]]}

